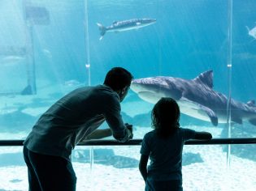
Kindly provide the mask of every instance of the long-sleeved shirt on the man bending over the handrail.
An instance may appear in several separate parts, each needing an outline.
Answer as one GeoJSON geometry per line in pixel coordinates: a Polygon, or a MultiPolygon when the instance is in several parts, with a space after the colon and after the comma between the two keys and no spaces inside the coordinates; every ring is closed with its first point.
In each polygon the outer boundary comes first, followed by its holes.
{"type": "Polygon", "coordinates": [[[70,159],[72,149],[106,120],[119,142],[128,141],[118,94],[110,87],[78,88],[53,104],[24,141],[28,150],[70,159]]]}

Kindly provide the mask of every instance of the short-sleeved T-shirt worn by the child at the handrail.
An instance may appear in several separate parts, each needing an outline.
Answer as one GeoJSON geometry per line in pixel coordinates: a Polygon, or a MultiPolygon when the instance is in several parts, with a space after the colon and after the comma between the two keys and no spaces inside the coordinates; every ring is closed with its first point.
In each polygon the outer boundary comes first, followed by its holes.
{"type": "Polygon", "coordinates": [[[155,129],[145,134],[141,155],[150,156],[149,180],[182,180],[182,150],[184,142],[195,138],[192,129],[179,128],[169,138],[158,138],[155,129]]]}

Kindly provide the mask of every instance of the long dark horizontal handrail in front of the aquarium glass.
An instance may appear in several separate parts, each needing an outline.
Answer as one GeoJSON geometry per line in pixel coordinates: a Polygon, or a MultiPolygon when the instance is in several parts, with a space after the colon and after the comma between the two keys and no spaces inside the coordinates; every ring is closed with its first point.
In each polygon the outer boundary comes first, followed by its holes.
{"type": "MultiPolygon", "coordinates": [[[[0,146],[23,146],[24,140],[0,140],[0,146]]],[[[132,139],[128,142],[115,140],[89,140],[80,142],[79,146],[136,146],[141,145],[142,139],[132,139]]],[[[185,145],[225,145],[225,144],[256,144],[256,138],[213,138],[210,140],[189,140],[185,145]]]]}

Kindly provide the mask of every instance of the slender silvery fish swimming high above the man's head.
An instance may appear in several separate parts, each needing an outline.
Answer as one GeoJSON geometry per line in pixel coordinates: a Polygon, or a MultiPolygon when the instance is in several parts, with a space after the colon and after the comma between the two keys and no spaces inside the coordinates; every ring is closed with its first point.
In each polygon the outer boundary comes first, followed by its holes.
{"type": "Polygon", "coordinates": [[[100,30],[100,39],[102,40],[106,32],[124,32],[128,30],[144,28],[156,22],[156,19],[129,19],[123,21],[114,21],[111,26],[104,27],[101,23],[97,23],[100,30]]]}

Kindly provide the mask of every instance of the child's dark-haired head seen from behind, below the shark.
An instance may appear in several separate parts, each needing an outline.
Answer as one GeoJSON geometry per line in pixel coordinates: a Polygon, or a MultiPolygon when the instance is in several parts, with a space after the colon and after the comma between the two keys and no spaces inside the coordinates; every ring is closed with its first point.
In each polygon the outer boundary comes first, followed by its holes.
{"type": "Polygon", "coordinates": [[[180,108],[169,97],[163,97],[154,105],[151,112],[152,127],[160,137],[168,137],[180,127],[180,108]]]}

